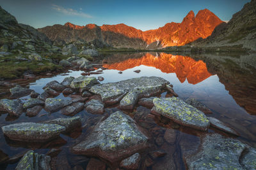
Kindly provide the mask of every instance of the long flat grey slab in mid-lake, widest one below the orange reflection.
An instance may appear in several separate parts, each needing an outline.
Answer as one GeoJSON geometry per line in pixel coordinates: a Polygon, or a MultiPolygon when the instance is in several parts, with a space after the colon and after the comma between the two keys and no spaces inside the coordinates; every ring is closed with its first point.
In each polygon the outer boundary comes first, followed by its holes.
{"type": "MultiPolygon", "coordinates": [[[[165,85],[168,83],[168,81],[160,77],[143,76],[140,78],[131,78],[129,80],[118,81],[116,83],[95,85],[89,91],[94,94],[99,94],[102,98],[102,101],[106,103],[107,101],[116,99],[129,91],[135,90],[137,87],[165,87],[165,85]]],[[[147,96],[147,94],[145,94],[145,96],[147,96]]],[[[143,96],[141,95],[140,97],[143,96]]]]}

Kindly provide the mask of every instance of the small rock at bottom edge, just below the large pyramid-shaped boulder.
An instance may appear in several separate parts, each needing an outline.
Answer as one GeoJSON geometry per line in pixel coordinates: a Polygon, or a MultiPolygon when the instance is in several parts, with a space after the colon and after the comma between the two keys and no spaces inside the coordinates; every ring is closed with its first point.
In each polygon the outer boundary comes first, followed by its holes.
{"type": "Polygon", "coordinates": [[[140,153],[134,153],[131,157],[122,160],[120,167],[124,169],[138,169],[140,166],[140,153]]]}

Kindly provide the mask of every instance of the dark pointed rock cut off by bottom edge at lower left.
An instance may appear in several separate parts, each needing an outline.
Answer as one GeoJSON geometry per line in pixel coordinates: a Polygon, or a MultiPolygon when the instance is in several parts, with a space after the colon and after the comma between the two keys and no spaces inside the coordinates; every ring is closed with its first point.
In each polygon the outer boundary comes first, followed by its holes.
{"type": "Polygon", "coordinates": [[[20,160],[19,164],[15,168],[16,170],[44,170],[51,169],[51,157],[38,154],[33,152],[33,150],[29,150],[20,160]]]}

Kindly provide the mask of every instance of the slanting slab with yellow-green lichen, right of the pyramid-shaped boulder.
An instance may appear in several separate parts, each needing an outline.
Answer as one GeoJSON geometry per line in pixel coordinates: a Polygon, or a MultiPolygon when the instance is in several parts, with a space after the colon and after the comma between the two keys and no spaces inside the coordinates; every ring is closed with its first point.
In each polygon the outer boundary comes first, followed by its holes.
{"type": "Polygon", "coordinates": [[[207,131],[210,125],[208,118],[202,111],[197,110],[177,97],[156,98],[153,103],[152,113],[158,113],[170,118],[177,124],[201,131],[207,131]]]}

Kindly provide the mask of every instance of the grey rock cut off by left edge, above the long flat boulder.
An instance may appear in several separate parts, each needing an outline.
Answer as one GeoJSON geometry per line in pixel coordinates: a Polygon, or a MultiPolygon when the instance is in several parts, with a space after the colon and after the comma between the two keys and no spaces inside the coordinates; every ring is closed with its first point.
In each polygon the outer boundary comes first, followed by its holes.
{"type": "Polygon", "coordinates": [[[22,114],[23,106],[15,100],[1,99],[0,110],[7,111],[11,116],[19,117],[22,114]]]}

